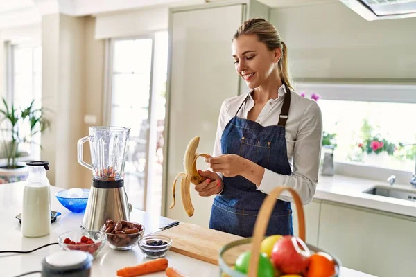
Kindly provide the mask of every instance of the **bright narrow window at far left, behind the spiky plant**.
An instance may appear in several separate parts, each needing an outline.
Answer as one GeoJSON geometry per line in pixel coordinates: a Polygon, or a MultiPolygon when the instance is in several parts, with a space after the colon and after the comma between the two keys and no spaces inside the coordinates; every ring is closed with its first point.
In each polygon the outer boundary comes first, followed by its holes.
{"type": "MultiPolygon", "coordinates": [[[[42,48],[40,46],[10,46],[8,102],[17,109],[28,107],[35,100],[35,107],[42,103],[42,48]]],[[[28,125],[28,121],[21,123],[28,125]]],[[[28,129],[28,127],[22,128],[28,129]]],[[[24,137],[25,134],[21,134],[24,137]]],[[[31,159],[40,159],[40,133],[32,137],[30,145],[21,145],[19,151],[27,152],[31,159]]]]}

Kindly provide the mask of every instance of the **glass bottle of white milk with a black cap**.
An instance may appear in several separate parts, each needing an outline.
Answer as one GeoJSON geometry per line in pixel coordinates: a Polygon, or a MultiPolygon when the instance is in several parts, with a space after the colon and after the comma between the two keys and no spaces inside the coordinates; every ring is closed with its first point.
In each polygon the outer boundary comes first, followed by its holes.
{"type": "Polygon", "coordinates": [[[21,234],[25,237],[42,237],[51,230],[51,192],[46,170],[48,161],[26,163],[29,175],[23,192],[21,234]]]}

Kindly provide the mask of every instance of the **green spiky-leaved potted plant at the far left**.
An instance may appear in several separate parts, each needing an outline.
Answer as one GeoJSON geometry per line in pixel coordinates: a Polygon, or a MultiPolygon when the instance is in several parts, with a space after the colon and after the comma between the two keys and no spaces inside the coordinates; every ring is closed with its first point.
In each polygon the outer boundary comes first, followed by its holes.
{"type": "Polygon", "coordinates": [[[28,107],[17,109],[15,105],[8,104],[3,98],[3,108],[0,109],[0,125],[3,150],[3,159],[6,165],[0,166],[0,184],[24,181],[28,176],[26,166],[19,165],[17,159],[24,156],[19,148],[23,145],[35,143],[32,138],[42,133],[51,125],[44,118],[44,108],[36,108],[35,100],[28,107]]]}

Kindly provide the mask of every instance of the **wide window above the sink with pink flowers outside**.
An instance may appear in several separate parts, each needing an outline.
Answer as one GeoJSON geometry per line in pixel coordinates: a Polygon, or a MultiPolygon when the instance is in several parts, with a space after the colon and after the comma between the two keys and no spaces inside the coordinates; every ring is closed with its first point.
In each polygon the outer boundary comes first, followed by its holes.
{"type": "Polygon", "coordinates": [[[324,134],[336,134],[334,160],[413,172],[416,155],[414,85],[298,84],[320,94],[324,134]]]}

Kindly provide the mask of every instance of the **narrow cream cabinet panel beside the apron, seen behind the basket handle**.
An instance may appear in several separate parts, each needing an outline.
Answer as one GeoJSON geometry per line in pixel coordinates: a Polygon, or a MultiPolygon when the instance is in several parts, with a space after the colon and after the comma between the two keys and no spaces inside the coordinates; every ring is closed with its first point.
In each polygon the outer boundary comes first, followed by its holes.
{"type": "MultiPolygon", "coordinates": [[[[319,217],[321,200],[313,199],[303,206],[305,215],[306,242],[318,245],[319,217]]],[[[297,210],[295,204],[291,204],[293,219],[293,235],[298,236],[297,210]]]]}

